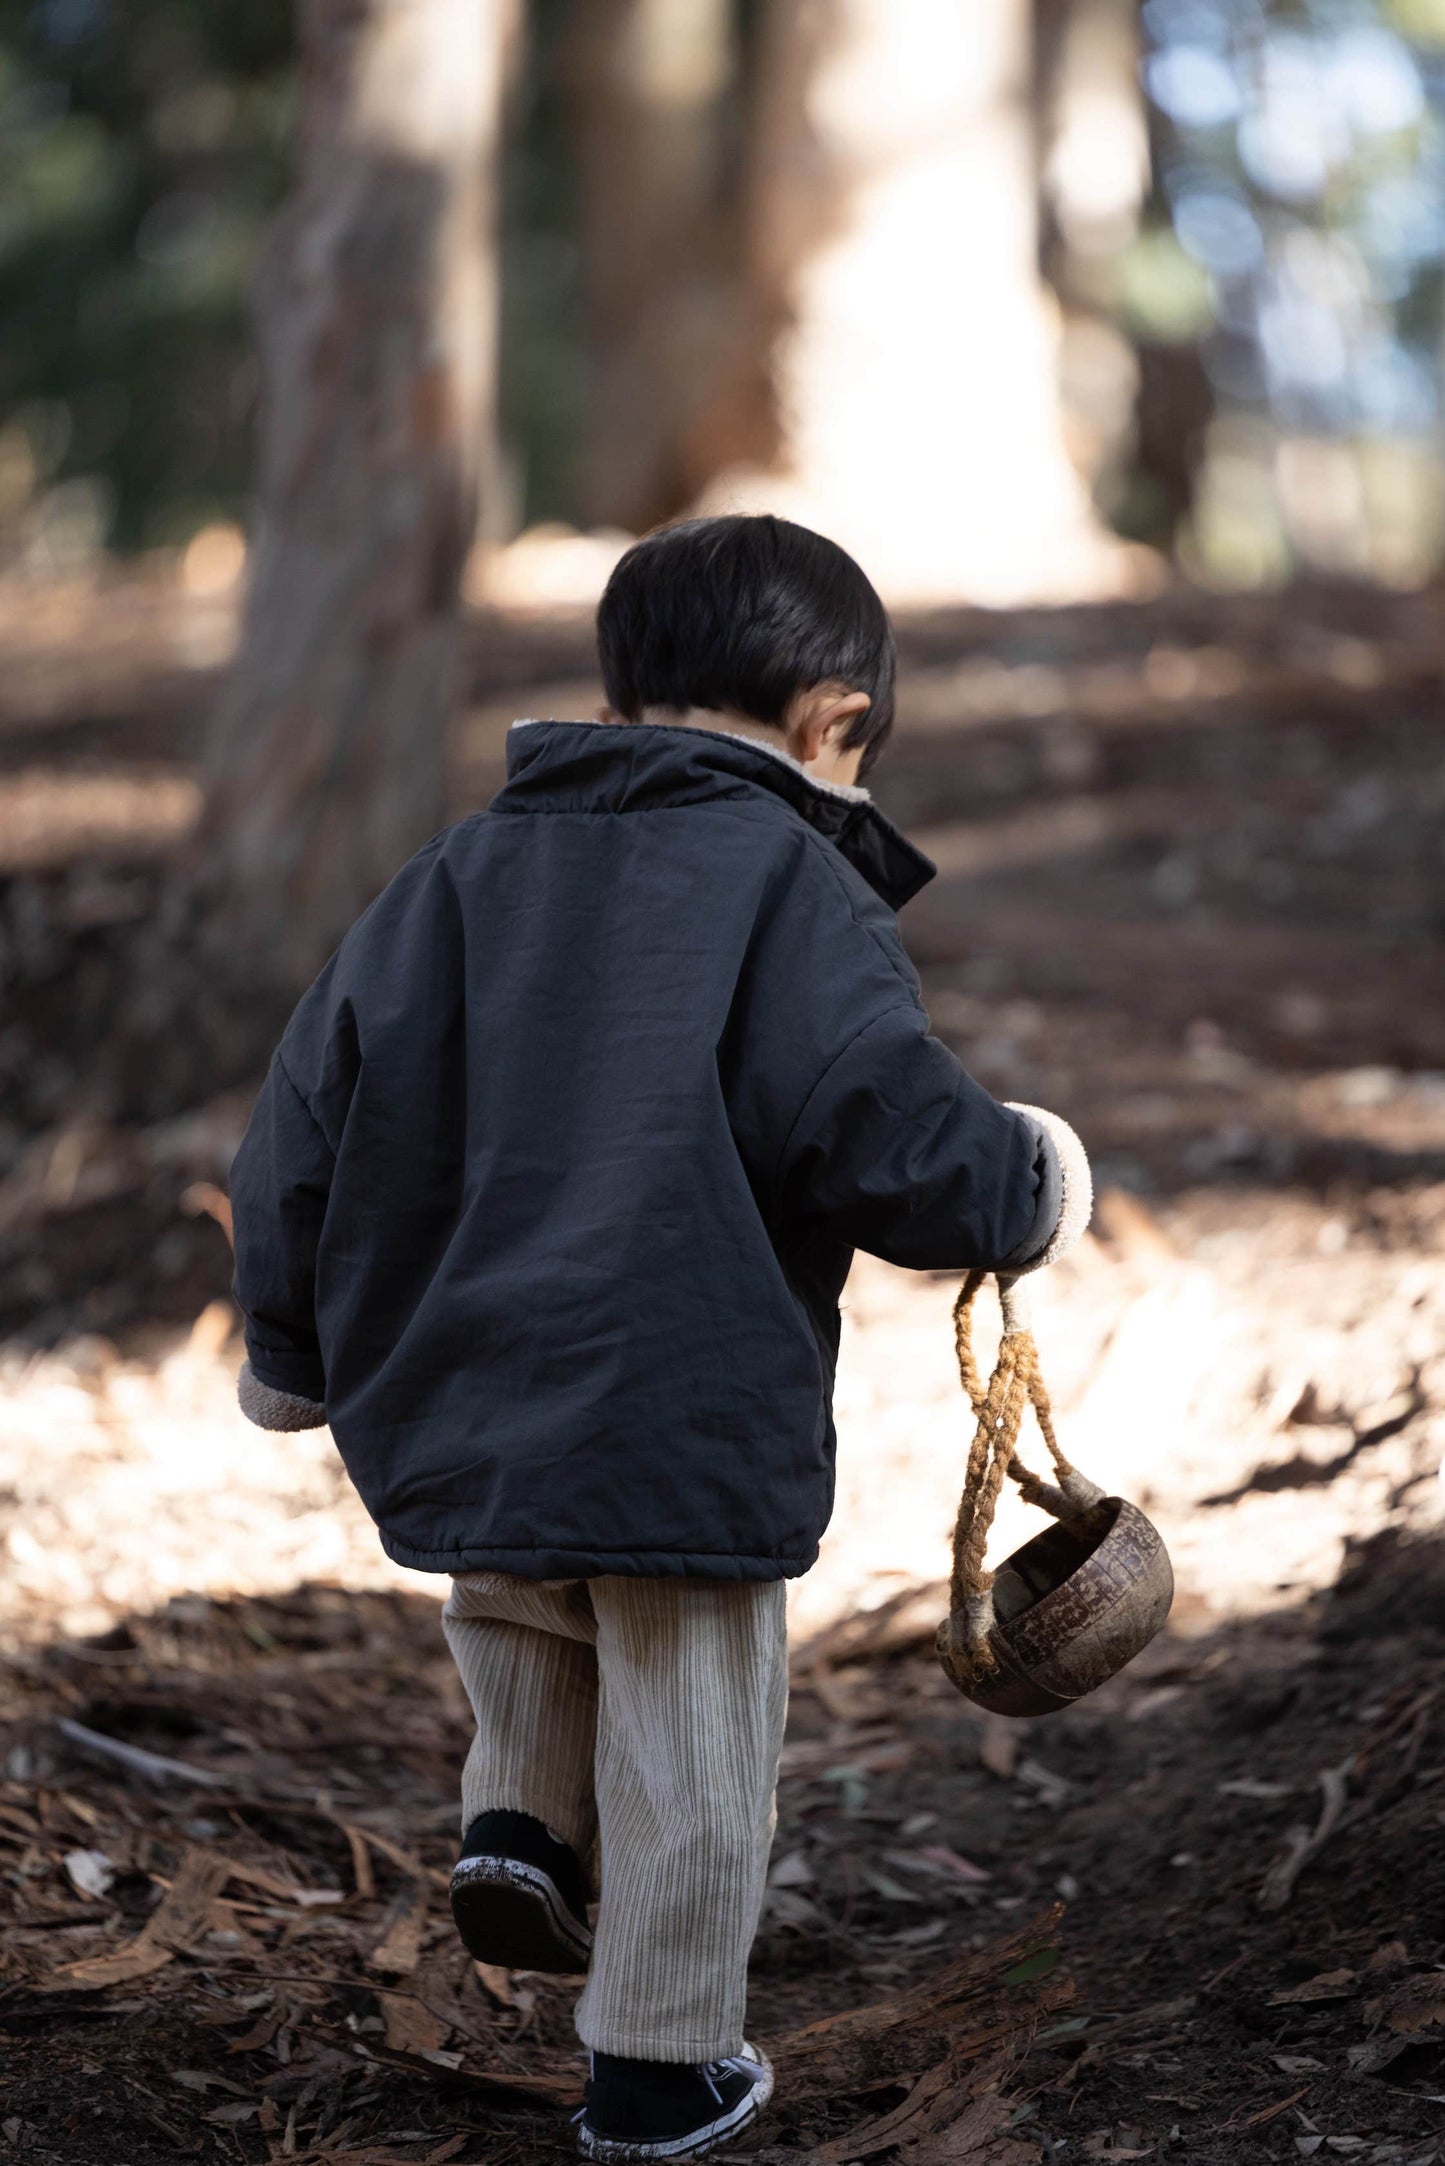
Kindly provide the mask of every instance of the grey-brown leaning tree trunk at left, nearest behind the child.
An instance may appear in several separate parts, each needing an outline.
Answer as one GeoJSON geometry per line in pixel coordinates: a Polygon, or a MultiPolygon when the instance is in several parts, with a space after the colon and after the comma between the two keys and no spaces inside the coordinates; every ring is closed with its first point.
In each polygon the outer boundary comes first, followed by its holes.
{"type": "Polygon", "coordinates": [[[507,0],[303,0],[297,180],[258,286],[258,511],[206,747],[225,949],[303,981],[442,821],[492,453],[507,0]]]}

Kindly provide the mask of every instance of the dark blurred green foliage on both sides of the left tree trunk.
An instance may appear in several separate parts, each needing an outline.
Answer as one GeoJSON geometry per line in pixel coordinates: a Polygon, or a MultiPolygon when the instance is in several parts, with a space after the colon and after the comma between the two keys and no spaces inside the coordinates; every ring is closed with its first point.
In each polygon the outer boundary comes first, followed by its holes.
{"type": "MultiPolygon", "coordinates": [[[[568,518],[583,409],[568,0],[533,0],[503,175],[492,518],[568,518]]],[[[0,0],[0,559],[63,570],[247,516],[256,260],[295,0],[0,0]]]]}

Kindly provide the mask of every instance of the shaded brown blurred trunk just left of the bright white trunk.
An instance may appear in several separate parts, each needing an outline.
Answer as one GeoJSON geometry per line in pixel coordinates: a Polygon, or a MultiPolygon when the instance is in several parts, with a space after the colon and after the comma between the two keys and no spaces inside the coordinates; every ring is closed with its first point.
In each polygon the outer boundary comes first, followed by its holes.
{"type": "Polygon", "coordinates": [[[732,0],[572,0],[596,524],[685,509],[750,444],[732,375],[741,204],[732,0]]]}

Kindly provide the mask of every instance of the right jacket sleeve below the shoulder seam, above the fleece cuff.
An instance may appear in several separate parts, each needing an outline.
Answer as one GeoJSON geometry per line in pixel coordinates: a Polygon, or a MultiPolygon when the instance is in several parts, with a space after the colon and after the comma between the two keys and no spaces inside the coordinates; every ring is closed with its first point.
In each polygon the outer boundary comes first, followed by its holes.
{"type": "Polygon", "coordinates": [[[780,1178],[789,1215],[912,1269],[1007,1269],[1046,1245],[1059,1211],[1044,1131],[990,1098],[910,999],[830,1061],[780,1178]]]}

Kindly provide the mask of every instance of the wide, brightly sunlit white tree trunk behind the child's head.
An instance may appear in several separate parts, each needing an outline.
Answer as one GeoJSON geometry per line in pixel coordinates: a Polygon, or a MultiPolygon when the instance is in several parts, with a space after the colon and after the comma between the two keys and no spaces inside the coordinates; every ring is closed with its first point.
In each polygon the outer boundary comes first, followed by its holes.
{"type": "Polygon", "coordinates": [[[780,453],[706,500],[825,529],[897,598],[1114,576],[1059,420],[1029,17],[1029,0],[769,0],[750,277],[780,453]]]}

